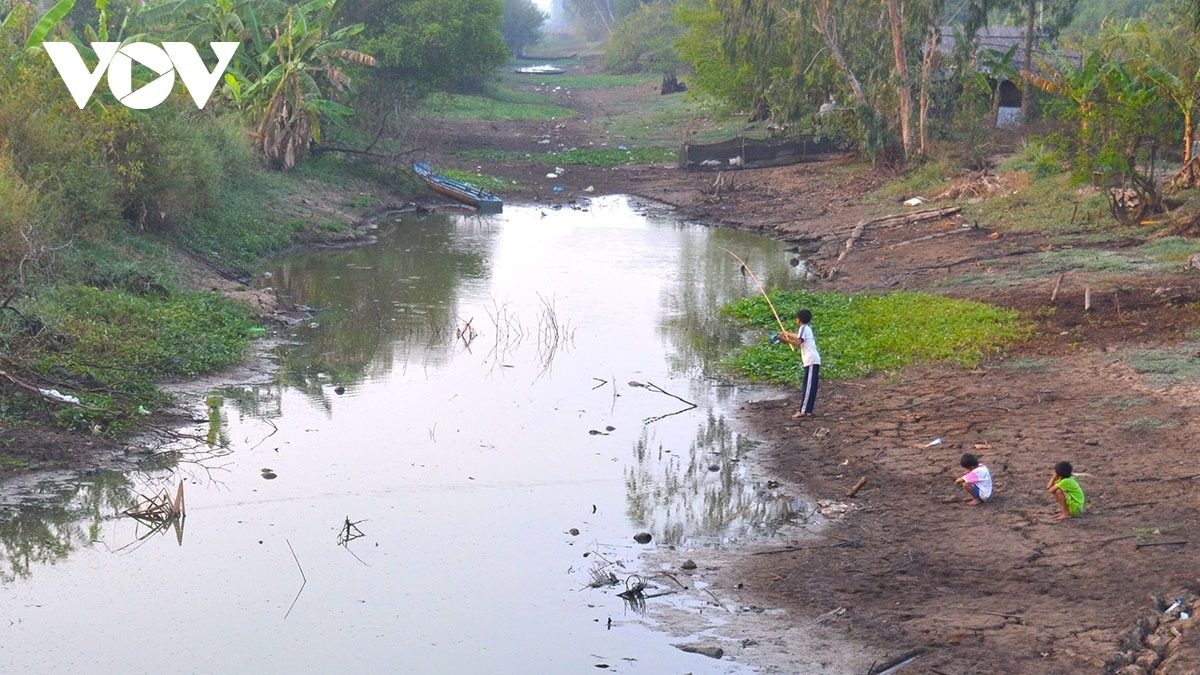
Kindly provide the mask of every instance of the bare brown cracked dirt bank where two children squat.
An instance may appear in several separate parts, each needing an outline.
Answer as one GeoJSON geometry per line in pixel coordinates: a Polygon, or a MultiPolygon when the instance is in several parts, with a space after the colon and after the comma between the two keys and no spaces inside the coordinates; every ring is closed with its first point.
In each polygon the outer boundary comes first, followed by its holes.
{"type": "MultiPolygon", "coordinates": [[[[634,88],[572,95],[564,103],[581,114],[563,124],[446,125],[438,130],[442,161],[463,165],[452,153],[472,144],[536,153],[545,150],[541,138],[595,142],[606,106],[648,95],[634,88]]],[[[1184,331],[1200,321],[1193,276],[1108,279],[1103,286],[1117,291],[1091,297],[1084,311],[1079,280],[1056,289],[1056,279],[1008,274],[1050,241],[956,217],[868,228],[839,262],[854,223],[872,215],[857,197],[886,178],[841,160],[734,172],[721,190],[714,174],[667,166],[570,168],[554,180],[528,162],[486,171],[517,180],[518,199],[632,193],[684,217],[794,241],[817,269],[836,267],[822,289],[953,288],[1018,309],[1034,324],[1032,340],[974,371],[922,366],[823,383],[818,416],[802,423],[792,420],[787,398],[745,406],[745,420],[772,441],[770,456],[760,460],[781,490],[848,510],[816,539],[797,525],[794,542],[775,542],[774,550],[726,552],[715,595],[782,610],[793,625],[823,616],[814,631],[870,645],[881,659],[918,653],[905,671],[1200,669],[1193,621],[1159,621],[1159,598],[1184,597],[1192,611],[1200,593],[1200,466],[1190,447],[1200,399],[1194,387],[1164,384],[1128,365],[1139,350],[1188,348],[1184,331]],[[566,190],[556,195],[552,183],[566,190]],[[941,443],[929,444],[934,438],[941,443]],[[964,452],[994,472],[996,496],[984,506],[970,507],[956,492],[964,452]],[[1056,522],[1045,486],[1064,459],[1088,508],[1056,522]],[[846,498],[860,477],[865,486],[846,498]]]]}

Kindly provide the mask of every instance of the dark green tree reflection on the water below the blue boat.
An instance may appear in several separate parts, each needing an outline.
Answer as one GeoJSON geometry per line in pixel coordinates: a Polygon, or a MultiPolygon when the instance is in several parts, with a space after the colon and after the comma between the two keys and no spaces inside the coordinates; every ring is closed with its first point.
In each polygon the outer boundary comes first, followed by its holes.
{"type": "Polygon", "coordinates": [[[456,346],[463,281],[488,274],[492,228],[485,219],[406,214],[378,245],[288,258],[271,283],[317,315],[278,350],[281,384],[328,404],[329,381],[359,382],[397,357],[444,360],[456,346]]]}

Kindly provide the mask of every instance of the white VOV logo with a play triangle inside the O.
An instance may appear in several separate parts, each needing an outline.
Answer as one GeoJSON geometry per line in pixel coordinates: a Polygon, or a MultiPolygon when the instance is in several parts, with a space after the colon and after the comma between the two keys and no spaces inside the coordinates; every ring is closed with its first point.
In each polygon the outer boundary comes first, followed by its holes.
{"type": "Polygon", "coordinates": [[[107,72],[108,90],[126,107],[137,110],[145,110],[166,101],[175,88],[175,73],[184,80],[184,88],[192,95],[196,107],[204,108],[239,44],[240,42],[210,42],[217,65],[209,71],[196,47],[188,42],[163,42],[162,47],[150,42],[130,42],[125,46],[120,42],[92,42],[91,48],[100,62],[96,64],[96,70],[88,70],[74,44],[42,42],[59,77],[66,83],[71,97],[80,109],[88,104],[100,78],[107,72]],[[158,73],[158,77],[137,91],[133,90],[133,61],[158,73]]]}

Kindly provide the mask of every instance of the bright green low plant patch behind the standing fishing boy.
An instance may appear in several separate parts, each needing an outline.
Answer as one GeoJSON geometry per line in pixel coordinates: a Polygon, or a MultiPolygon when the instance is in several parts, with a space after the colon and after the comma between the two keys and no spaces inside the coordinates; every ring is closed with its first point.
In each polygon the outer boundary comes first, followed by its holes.
{"type": "MultiPolygon", "coordinates": [[[[796,310],[812,310],[821,372],[832,378],[896,371],[914,363],[973,368],[1030,330],[1018,312],[924,293],[775,292],[770,299],[788,329],[794,327],[796,310]]],[[[728,359],[730,368],[754,380],[799,384],[798,356],[767,340],[779,330],[767,301],[761,295],[745,298],[726,311],[762,334],[728,359]]]]}

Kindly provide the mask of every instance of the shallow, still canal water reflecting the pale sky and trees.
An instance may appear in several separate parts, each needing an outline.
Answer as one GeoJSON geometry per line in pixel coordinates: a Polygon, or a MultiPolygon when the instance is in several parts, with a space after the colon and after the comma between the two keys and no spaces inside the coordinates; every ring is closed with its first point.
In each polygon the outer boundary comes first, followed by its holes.
{"type": "Polygon", "coordinates": [[[724,249],[802,282],[778,241],[623,197],[283,261],[269,283],[318,312],[270,381],[196,401],[227,449],[10,488],[5,671],[751,671],[617,597],[648,548],[794,508],[730,419],[716,360],[746,338],[715,310],[757,291],[724,249]],[[182,531],[118,516],[180,479],[182,531]]]}

